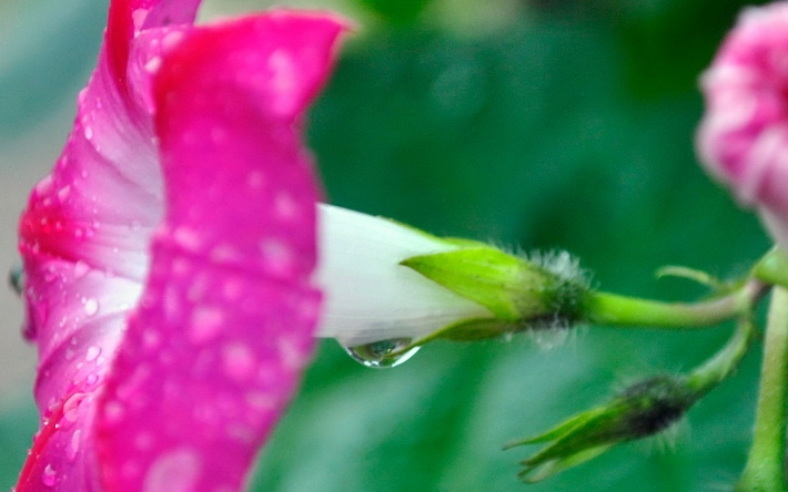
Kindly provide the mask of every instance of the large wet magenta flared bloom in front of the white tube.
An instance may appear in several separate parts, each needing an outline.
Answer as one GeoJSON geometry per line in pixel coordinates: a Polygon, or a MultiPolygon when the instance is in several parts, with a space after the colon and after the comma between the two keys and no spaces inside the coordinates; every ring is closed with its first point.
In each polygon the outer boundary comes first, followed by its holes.
{"type": "Polygon", "coordinates": [[[40,430],[17,491],[234,491],[314,344],[300,126],[343,23],[113,0],[20,224],[40,430]]]}

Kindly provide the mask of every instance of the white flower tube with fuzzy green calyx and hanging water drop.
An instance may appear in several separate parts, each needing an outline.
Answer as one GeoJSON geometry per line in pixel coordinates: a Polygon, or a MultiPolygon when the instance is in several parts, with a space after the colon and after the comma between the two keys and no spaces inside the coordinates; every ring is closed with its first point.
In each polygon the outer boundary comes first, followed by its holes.
{"type": "Polygon", "coordinates": [[[364,366],[397,366],[433,339],[556,331],[584,318],[588,281],[567,253],[523,258],[330,205],[320,224],[320,335],[364,366]]]}

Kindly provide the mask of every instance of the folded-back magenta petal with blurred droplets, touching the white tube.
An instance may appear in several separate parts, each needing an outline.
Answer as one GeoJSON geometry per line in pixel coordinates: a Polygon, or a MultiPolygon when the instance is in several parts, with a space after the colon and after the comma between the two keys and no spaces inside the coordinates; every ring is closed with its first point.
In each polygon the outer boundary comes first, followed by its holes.
{"type": "Polygon", "coordinates": [[[164,55],[168,207],[99,403],[109,490],[238,490],[294,391],[320,307],[299,126],[342,30],[276,12],[194,29],[164,55]]]}

